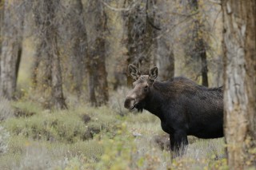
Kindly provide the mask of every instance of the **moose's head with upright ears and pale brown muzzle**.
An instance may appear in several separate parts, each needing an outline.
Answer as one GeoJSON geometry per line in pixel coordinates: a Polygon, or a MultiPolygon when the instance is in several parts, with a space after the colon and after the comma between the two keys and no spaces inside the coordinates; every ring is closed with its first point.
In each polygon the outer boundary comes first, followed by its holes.
{"type": "Polygon", "coordinates": [[[150,93],[150,87],[158,77],[158,68],[150,69],[149,75],[141,75],[135,65],[128,66],[130,76],[134,79],[133,88],[126,96],[125,108],[138,109],[142,111],[145,105],[145,99],[150,93]]]}

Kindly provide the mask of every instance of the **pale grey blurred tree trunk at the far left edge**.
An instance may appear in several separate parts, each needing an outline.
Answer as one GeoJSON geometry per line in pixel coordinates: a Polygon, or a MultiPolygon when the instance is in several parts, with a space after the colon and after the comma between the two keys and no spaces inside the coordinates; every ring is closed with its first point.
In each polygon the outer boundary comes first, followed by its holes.
{"type": "Polygon", "coordinates": [[[22,18],[18,18],[22,11],[20,6],[16,1],[5,1],[4,4],[0,95],[7,99],[14,97],[22,52],[22,18]]]}

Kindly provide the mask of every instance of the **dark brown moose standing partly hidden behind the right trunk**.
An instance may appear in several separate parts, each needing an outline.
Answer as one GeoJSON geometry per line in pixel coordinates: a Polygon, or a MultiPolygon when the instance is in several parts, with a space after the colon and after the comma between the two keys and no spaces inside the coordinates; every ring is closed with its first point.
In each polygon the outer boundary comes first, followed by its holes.
{"type": "Polygon", "coordinates": [[[207,88],[185,77],[156,81],[158,68],[141,75],[135,65],[128,66],[134,79],[124,106],[148,110],[161,121],[162,130],[170,135],[171,151],[178,153],[188,144],[187,136],[210,139],[223,136],[222,87],[207,88]]]}

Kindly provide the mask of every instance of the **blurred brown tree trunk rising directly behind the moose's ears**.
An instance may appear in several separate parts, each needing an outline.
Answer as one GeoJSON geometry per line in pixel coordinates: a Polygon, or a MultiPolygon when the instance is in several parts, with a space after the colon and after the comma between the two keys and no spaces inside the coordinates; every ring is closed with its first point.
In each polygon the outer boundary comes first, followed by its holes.
{"type": "MultiPolygon", "coordinates": [[[[140,0],[128,14],[127,64],[137,65],[142,73],[148,73],[154,59],[154,3],[154,0],[140,0]]],[[[131,85],[131,82],[131,77],[127,77],[128,85],[131,85]]]]}

